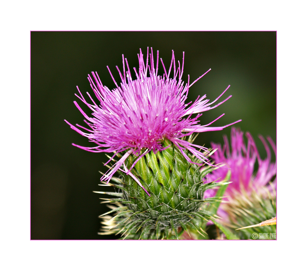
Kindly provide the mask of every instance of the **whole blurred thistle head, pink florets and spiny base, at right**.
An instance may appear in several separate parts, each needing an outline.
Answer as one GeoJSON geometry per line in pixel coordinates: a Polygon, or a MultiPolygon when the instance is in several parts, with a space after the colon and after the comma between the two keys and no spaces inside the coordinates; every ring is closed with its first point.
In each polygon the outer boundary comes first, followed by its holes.
{"type": "MultiPolygon", "coordinates": [[[[231,169],[231,183],[224,193],[226,202],[220,204],[217,214],[222,217],[223,223],[234,225],[233,228],[237,225],[242,227],[257,224],[276,216],[277,163],[271,162],[270,147],[261,135],[259,138],[266,149],[265,159],[260,158],[251,134],[246,133],[246,137],[247,145],[244,143],[243,132],[232,128],[231,150],[226,136],[223,147],[220,144],[211,144],[212,148],[216,149],[211,158],[217,164],[222,163],[231,169]]],[[[267,137],[267,140],[276,156],[275,143],[270,137],[267,137]]],[[[226,168],[217,168],[206,175],[205,183],[224,180],[227,173],[226,168]]],[[[206,190],[204,198],[214,195],[214,190],[206,190]]]]}

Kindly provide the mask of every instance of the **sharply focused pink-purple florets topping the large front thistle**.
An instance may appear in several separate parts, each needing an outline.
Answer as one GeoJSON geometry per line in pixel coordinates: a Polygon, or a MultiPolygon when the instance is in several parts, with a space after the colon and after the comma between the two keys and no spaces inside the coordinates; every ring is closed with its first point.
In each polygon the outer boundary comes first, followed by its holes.
{"type": "Polygon", "coordinates": [[[95,147],[82,147],[73,144],[74,146],[91,152],[114,152],[114,155],[108,162],[110,162],[116,154],[125,152],[125,154],[122,155],[122,158],[120,158],[119,161],[108,170],[101,180],[108,182],[117,170],[122,170],[133,177],[134,180],[142,186],[138,179],[130,173],[130,169],[133,168],[136,162],[138,162],[138,159],[146,155],[148,152],[153,151],[154,153],[157,153],[157,151],[162,151],[168,148],[169,146],[166,148],[162,147],[164,139],[173,142],[189,162],[192,163],[191,159],[185,154],[185,149],[190,151],[202,162],[208,163],[208,158],[206,158],[201,151],[196,150],[196,148],[198,148],[202,151],[207,151],[207,148],[192,144],[180,138],[190,135],[193,132],[222,130],[223,128],[241,120],[222,127],[208,127],[214,121],[223,116],[223,114],[209,124],[197,124],[197,119],[201,116],[200,112],[213,109],[231,97],[229,96],[224,101],[211,107],[211,105],[215,103],[230,86],[228,86],[227,89],[211,103],[209,103],[208,99],[205,99],[206,95],[204,95],[198,97],[192,104],[185,104],[189,88],[211,69],[197,78],[192,84],[190,84],[188,76],[188,83],[184,84],[181,80],[184,65],[184,53],[182,66],[178,61],[179,67],[176,68],[173,52],[168,72],[166,71],[161,59],[164,70],[163,76],[157,74],[159,51],[157,51],[156,66],[154,65],[152,49],[151,54],[149,54],[149,49],[147,48],[146,61],[144,61],[144,56],[140,50],[138,60],[139,69],[137,71],[133,68],[136,74],[136,80],[133,80],[127,59],[124,59],[124,56],[122,55],[123,73],[121,73],[119,68],[116,66],[122,81],[120,85],[116,83],[109,67],[107,66],[116,86],[114,90],[110,90],[107,86],[103,86],[97,72],[92,72],[95,82],[91,76],[88,75],[91,88],[99,103],[96,103],[90,94],[87,93],[92,104],[88,103],[77,86],[80,96],[77,94],[76,96],[93,111],[91,117],[87,116],[78,103],[74,101],[76,107],[86,118],[84,121],[89,126],[89,129],[78,124],[74,126],[68,121],[65,121],[73,130],[86,136],[90,142],[97,145],[95,147]],[[172,69],[173,78],[170,77],[172,69]],[[148,73],[149,76],[147,76],[148,73]],[[177,77],[178,81],[176,80],[177,77]],[[192,114],[195,113],[197,113],[197,115],[192,117],[192,114]],[[85,131],[81,131],[77,127],[82,128],[85,131]],[[139,155],[139,157],[128,170],[124,163],[126,158],[131,154],[139,155]],[[123,168],[121,168],[122,166],[123,168]]]}

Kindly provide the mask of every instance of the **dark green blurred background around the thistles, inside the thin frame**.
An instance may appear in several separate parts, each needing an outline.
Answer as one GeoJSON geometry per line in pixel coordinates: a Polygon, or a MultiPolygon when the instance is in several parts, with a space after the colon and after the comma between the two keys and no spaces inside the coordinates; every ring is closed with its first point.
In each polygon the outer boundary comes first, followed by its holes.
{"type": "MultiPolygon", "coordinates": [[[[92,145],[64,119],[83,124],[73,101],[77,85],[91,93],[87,74],[97,71],[113,89],[106,66],[119,82],[115,66],[122,69],[122,54],[130,69],[138,68],[139,48],[145,54],[147,47],[159,50],[167,68],[172,50],[180,61],[184,51],[185,82],[188,74],[193,82],[212,69],[190,88],[189,101],[203,94],[213,101],[231,85],[222,97],[231,99],[205,112],[201,124],[222,113],[212,126],[242,119],[235,126],[251,132],[262,158],[258,134],[276,142],[276,32],[31,32],[31,239],[115,239],[97,234],[98,216],[108,208],[92,192],[103,190],[99,171],[107,170],[107,158],[73,147],[92,145]]],[[[209,147],[230,131],[202,133],[196,143],[209,147]]]]}

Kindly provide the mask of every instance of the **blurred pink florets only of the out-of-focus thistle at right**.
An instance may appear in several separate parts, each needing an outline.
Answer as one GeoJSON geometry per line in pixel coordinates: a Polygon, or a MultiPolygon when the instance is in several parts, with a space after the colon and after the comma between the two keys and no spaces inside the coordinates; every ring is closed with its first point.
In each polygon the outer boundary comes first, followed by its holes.
{"type": "MultiPolygon", "coordinates": [[[[224,193],[225,200],[232,201],[240,195],[250,196],[251,193],[256,192],[258,195],[264,195],[268,190],[270,193],[276,190],[277,164],[271,162],[270,147],[266,140],[259,135],[265,149],[266,158],[262,160],[258,153],[255,141],[250,133],[246,133],[247,146],[244,143],[243,132],[239,129],[231,129],[231,151],[227,136],[224,136],[224,146],[220,144],[211,143],[213,149],[217,149],[211,156],[216,164],[224,164],[231,169],[230,183],[224,193]],[[258,162],[258,170],[256,173],[255,165],[258,162]],[[275,176],[274,181],[271,182],[275,176]]],[[[270,137],[267,137],[276,157],[276,145],[270,137]]],[[[206,175],[206,183],[211,181],[222,181],[228,173],[226,168],[217,168],[210,174],[206,175]]],[[[204,197],[212,197],[216,193],[213,189],[208,189],[204,193],[204,197]]],[[[223,212],[223,203],[220,205],[218,215],[225,218],[223,212]]]]}

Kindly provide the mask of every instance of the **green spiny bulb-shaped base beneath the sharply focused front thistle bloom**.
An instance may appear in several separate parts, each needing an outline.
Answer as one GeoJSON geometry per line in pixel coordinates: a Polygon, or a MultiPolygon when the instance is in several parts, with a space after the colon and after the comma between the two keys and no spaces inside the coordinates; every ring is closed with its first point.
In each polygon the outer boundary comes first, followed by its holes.
{"type": "MultiPolygon", "coordinates": [[[[218,197],[203,199],[206,189],[224,184],[203,183],[203,177],[215,167],[205,166],[200,170],[199,165],[189,163],[172,143],[165,140],[163,144],[171,144],[171,147],[156,154],[147,153],[131,170],[151,197],[126,174],[121,174],[120,179],[113,178],[114,183],[109,184],[121,189],[123,193],[103,192],[120,197],[105,199],[107,202],[125,205],[112,207],[112,211],[101,216],[105,230],[102,234],[122,232],[129,239],[144,239],[145,236],[145,239],[169,236],[178,238],[179,227],[184,230],[189,225],[197,230],[194,217],[206,221],[213,219],[212,214],[200,208],[205,202],[220,200],[218,197]],[[104,217],[111,212],[117,212],[116,216],[104,217]]],[[[134,163],[135,159],[137,157],[130,156],[126,160],[127,166],[134,163]]]]}

